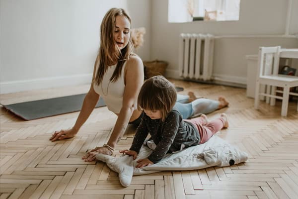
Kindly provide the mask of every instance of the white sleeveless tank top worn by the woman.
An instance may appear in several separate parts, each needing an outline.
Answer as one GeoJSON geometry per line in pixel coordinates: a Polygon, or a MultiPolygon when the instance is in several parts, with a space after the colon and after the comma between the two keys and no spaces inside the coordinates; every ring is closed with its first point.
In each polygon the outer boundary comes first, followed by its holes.
{"type": "MultiPolygon", "coordinates": [[[[123,64],[121,76],[116,82],[111,82],[110,79],[116,69],[116,65],[109,66],[108,70],[103,76],[101,84],[93,83],[94,91],[99,94],[106,103],[109,110],[114,113],[119,113],[122,108],[123,95],[125,90],[124,84],[124,69],[126,62],[123,64]]],[[[97,74],[98,66],[96,68],[97,74]]]]}

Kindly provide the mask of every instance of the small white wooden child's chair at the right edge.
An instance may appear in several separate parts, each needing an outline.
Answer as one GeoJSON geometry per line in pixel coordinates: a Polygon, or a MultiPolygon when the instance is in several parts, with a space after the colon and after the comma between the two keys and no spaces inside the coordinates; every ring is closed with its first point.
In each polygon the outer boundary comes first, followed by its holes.
{"type": "Polygon", "coordinates": [[[281,115],[287,116],[289,95],[298,96],[297,93],[290,92],[290,88],[298,87],[298,77],[278,74],[280,57],[298,58],[298,49],[282,49],[280,46],[259,48],[254,106],[256,109],[259,108],[261,96],[266,97],[267,103],[270,100],[270,105],[275,105],[275,100],[280,99],[282,100],[281,115]],[[266,89],[260,89],[261,85],[266,85],[266,89]],[[283,88],[283,91],[276,91],[276,87],[283,88]],[[283,96],[277,96],[276,93],[283,93],[283,96]]]}

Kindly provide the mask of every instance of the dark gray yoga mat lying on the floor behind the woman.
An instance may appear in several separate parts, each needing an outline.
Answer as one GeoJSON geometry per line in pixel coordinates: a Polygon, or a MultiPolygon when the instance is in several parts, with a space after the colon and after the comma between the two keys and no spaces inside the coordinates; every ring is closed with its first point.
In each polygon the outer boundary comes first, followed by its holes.
{"type": "MultiPolygon", "coordinates": [[[[24,120],[32,120],[79,111],[81,109],[85,95],[86,94],[80,94],[46,100],[1,105],[24,120]]],[[[98,100],[95,107],[101,106],[105,106],[102,98],[98,100]]]]}

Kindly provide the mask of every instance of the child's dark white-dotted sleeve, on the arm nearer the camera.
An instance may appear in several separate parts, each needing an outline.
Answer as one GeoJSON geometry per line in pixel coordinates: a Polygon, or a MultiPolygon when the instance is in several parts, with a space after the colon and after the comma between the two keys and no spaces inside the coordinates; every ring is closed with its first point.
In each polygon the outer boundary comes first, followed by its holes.
{"type": "Polygon", "coordinates": [[[163,130],[161,132],[162,138],[157,144],[155,150],[148,157],[148,159],[151,162],[159,162],[163,158],[163,156],[168,152],[178,132],[179,123],[179,113],[177,111],[170,112],[170,114],[167,116],[165,120],[163,130]]]}

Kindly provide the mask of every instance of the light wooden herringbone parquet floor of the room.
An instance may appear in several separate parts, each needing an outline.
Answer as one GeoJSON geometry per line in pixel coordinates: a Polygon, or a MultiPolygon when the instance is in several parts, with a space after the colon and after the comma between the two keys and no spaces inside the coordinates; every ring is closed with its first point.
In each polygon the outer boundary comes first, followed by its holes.
{"type": "MultiPolygon", "coordinates": [[[[116,121],[106,107],[96,108],[72,139],[51,142],[55,130],[72,127],[78,112],[23,121],[0,108],[0,199],[298,199],[298,112],[291,102],[288,117],[281,103],[261,103],[255,110],[246,90],[226,86],[173,81],[181,94],[217,99],[224,95],[230,127],[220,137],[249,154],[231,167],[160,172],[134,176],[123,188],[117,173],[101,162],[84,162],[88,149],[103,145],[116,121]]],[[[88,85],[5,94],[9,104],[87,92],[88,85]]],[[[130,147],[129,131],[117,150],[130,147]]],[[[116,155],[120,155],[119,153],[116,155]]]]}

